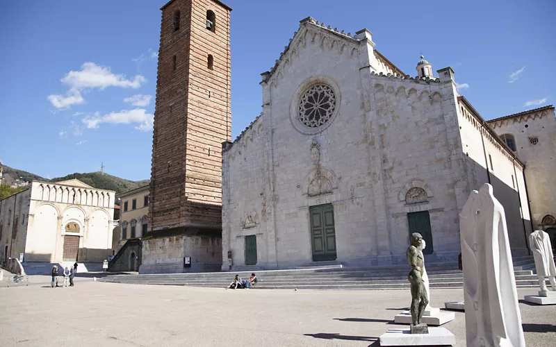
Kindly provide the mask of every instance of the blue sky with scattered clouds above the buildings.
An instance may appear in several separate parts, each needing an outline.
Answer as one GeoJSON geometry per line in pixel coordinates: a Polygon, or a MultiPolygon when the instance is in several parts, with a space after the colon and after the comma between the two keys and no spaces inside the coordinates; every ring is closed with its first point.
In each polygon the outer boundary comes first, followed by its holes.
{"type": "MultiPolygon", "coordinates": [[[[179,0],[183,1],[183,0],[179,0]]],[[[0,1],[0,161],[44,178],[148,179],[166,0],[0,1]]],[[[261,112],[260,74],[311,16],[355,33],[411,76],[452,67],[484,119],[556,103],[556,1],[224,0],[232,139],[261,112]]]]}

